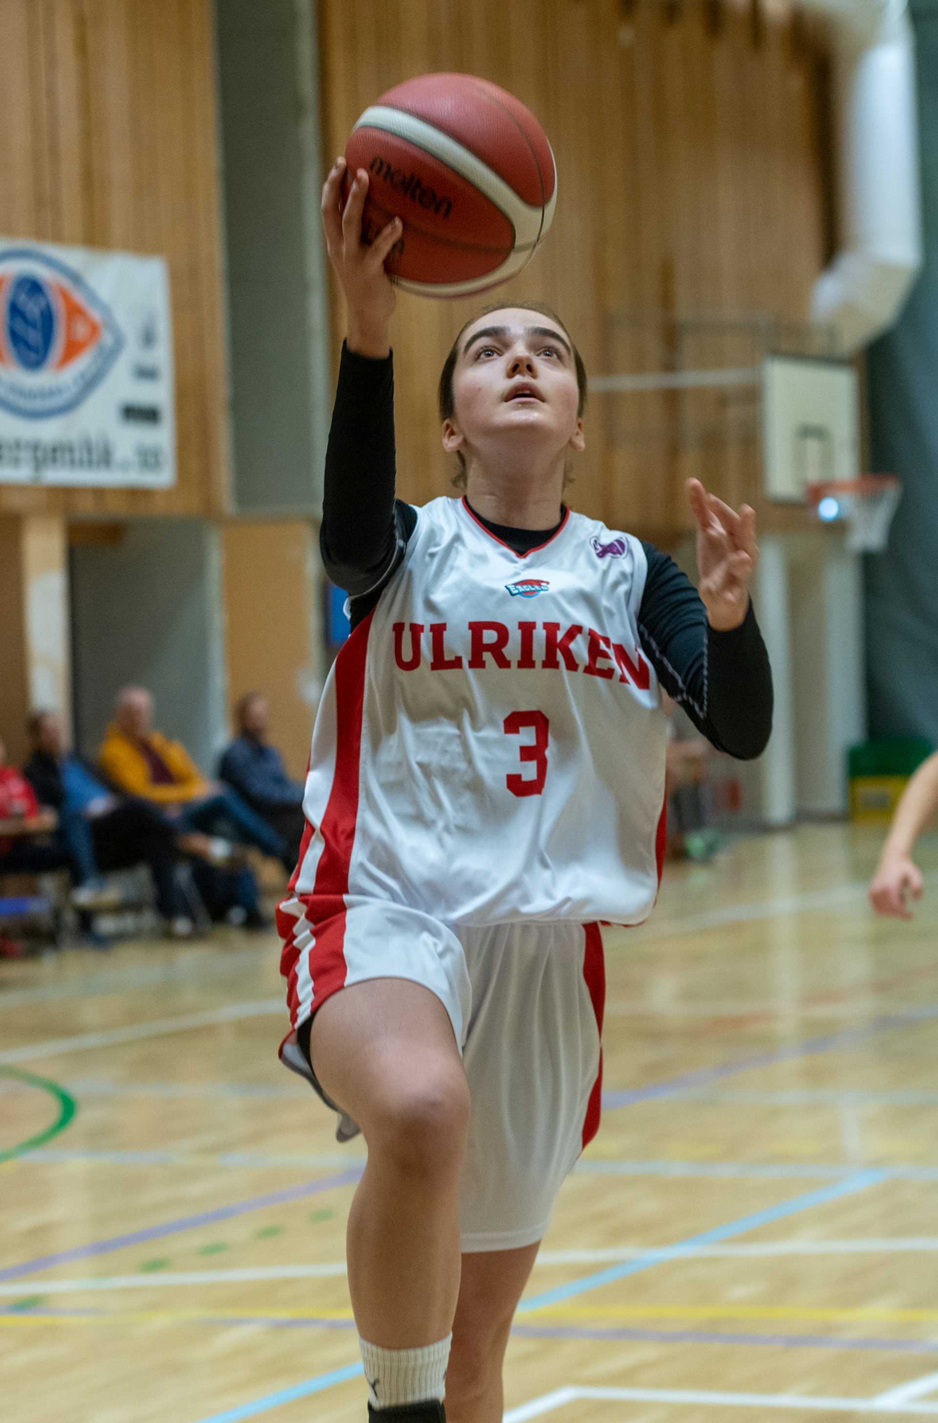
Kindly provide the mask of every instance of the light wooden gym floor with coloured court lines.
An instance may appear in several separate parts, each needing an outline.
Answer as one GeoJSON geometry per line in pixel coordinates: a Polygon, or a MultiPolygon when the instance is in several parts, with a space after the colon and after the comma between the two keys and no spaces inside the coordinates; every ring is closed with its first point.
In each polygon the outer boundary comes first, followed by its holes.
{"type": "MultiPolygon", "coordinates": [[[[607,941],[603,1127],[561,1194],[506,1419],[938,1416],[938,841],[671,865],[607,941]]],[[[277,945],[0,965],[4,1423],[362,1423],[361,1163],[276,1060],[277,945]]]]}

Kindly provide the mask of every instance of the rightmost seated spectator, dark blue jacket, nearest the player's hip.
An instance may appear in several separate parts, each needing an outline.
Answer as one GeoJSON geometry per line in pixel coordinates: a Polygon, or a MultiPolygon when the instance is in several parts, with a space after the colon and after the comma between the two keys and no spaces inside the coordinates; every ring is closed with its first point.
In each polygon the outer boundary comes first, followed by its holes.
{"type": "Polygon", "coordinates": [[[219,777],[283,835],[296,864],[306,825],[303,784],[290,780],[280,751],[267,741],[267,697],[249,692],[237,703],[234,720],[237,736],[222,756],[219,777]]]}

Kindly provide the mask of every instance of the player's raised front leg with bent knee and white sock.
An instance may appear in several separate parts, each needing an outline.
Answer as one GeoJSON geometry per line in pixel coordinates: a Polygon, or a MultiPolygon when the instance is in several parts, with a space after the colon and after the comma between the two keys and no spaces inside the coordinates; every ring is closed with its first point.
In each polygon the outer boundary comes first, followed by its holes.
{"type": "Polygon", "coordinates": [[[371,1402],[432,1403],[459,1294],[470,1107],[449,1016],[418,983],[357,983],[316,1013],[310,1059],[368,1144],[348,1217],[348,1286],[371,1402]]]}

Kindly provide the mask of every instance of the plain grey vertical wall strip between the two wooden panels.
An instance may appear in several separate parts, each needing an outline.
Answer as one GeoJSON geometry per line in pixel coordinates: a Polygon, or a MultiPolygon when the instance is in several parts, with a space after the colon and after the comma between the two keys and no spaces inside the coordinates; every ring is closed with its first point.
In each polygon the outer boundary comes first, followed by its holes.
{"type": "Polygon", "coordinates": [[[317,514],[328,430],[316,0],[216,0],[234,502],[317,514]]]}

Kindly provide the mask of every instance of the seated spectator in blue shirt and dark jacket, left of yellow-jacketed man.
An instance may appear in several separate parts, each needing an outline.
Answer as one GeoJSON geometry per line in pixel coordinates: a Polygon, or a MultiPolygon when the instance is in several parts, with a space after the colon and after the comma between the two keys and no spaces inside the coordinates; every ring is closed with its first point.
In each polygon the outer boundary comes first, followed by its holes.
{"type": "Polygon", "coordinates": [[[68,827],[72,854],[84,875],[145,864],[156,891],[156,909],[175,938],[195,931],[178,878],[179,851],[210,858],[205,835],[179,835],[161,810],[135,795],[115,794],[101,774],[68,748],[57,712],[34,712],[28,721],[33,754],[24,776],[41,805],[57,811],[68,827]]]}

